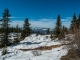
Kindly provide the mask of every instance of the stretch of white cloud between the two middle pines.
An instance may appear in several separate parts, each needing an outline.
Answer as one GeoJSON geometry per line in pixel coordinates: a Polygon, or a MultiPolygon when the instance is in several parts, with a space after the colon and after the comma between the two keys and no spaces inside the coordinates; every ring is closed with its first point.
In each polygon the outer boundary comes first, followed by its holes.
{"type": "Polygon", "coordinates": [[[39,19],[37,21],[31,20],[31,26],[32,27],[47,27],[47,28],[53,28],[55,26],[54,19],[39,19]]]}

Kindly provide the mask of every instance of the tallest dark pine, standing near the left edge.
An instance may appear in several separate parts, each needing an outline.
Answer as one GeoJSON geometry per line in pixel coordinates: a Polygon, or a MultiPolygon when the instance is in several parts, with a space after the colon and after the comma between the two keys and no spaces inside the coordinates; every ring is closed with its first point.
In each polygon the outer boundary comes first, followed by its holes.
{"type": "Polygon", "coordinates": [[[1,26],[3,29],[3,38],[2,38],[2,44],[6,44],[9,45],[9,40],[8,40],[8,28],[9,28],[9,22],[10,22],[10,14],[9,14],[9,10],[5,9],[3,12],[3,18],[1,19],[1,26]]]}

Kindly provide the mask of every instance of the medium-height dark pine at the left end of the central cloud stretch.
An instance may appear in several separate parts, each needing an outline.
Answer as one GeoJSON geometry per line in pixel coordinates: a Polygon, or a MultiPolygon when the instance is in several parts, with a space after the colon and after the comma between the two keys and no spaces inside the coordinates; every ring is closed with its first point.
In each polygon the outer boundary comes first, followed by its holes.
{"type": "Polygon", "coordinates": [[[29,26],[30,26],[30,23],[28,21],[28,18],[26,18],[25,21],[24,21],[24,25],[23,25],[23,32],[22,32],[22,37],[23,38],[30,35],[31,30],[30,30],[29,26]]]}

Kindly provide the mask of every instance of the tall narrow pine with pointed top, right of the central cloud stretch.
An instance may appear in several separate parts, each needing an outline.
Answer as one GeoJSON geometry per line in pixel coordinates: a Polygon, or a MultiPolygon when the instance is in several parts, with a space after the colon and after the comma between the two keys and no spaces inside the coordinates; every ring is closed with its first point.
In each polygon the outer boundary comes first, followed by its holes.
{"type": "Polygon", "coordinates": [[[62,25],[61,25],[61,18],[60,18],[60,15],[58,15],[57,21],[56,21],[56,26],[55,26],[54,32],[53,32],[54,35],[55,35],[55,38],[57,38],[59,36],[59,34],[61,32],[61,27],[62,27],[62,25]]]}

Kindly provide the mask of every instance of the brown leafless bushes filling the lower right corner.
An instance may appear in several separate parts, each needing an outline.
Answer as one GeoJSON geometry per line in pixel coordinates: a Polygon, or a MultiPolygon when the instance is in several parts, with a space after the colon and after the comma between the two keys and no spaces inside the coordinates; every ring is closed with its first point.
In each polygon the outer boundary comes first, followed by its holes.
{"type": "Polygon", "coordinates": [[[74,30],[73,39],[71,39],[67,55],[63,56],[61,60],[80,60],[80,30],[74,30]]]}

